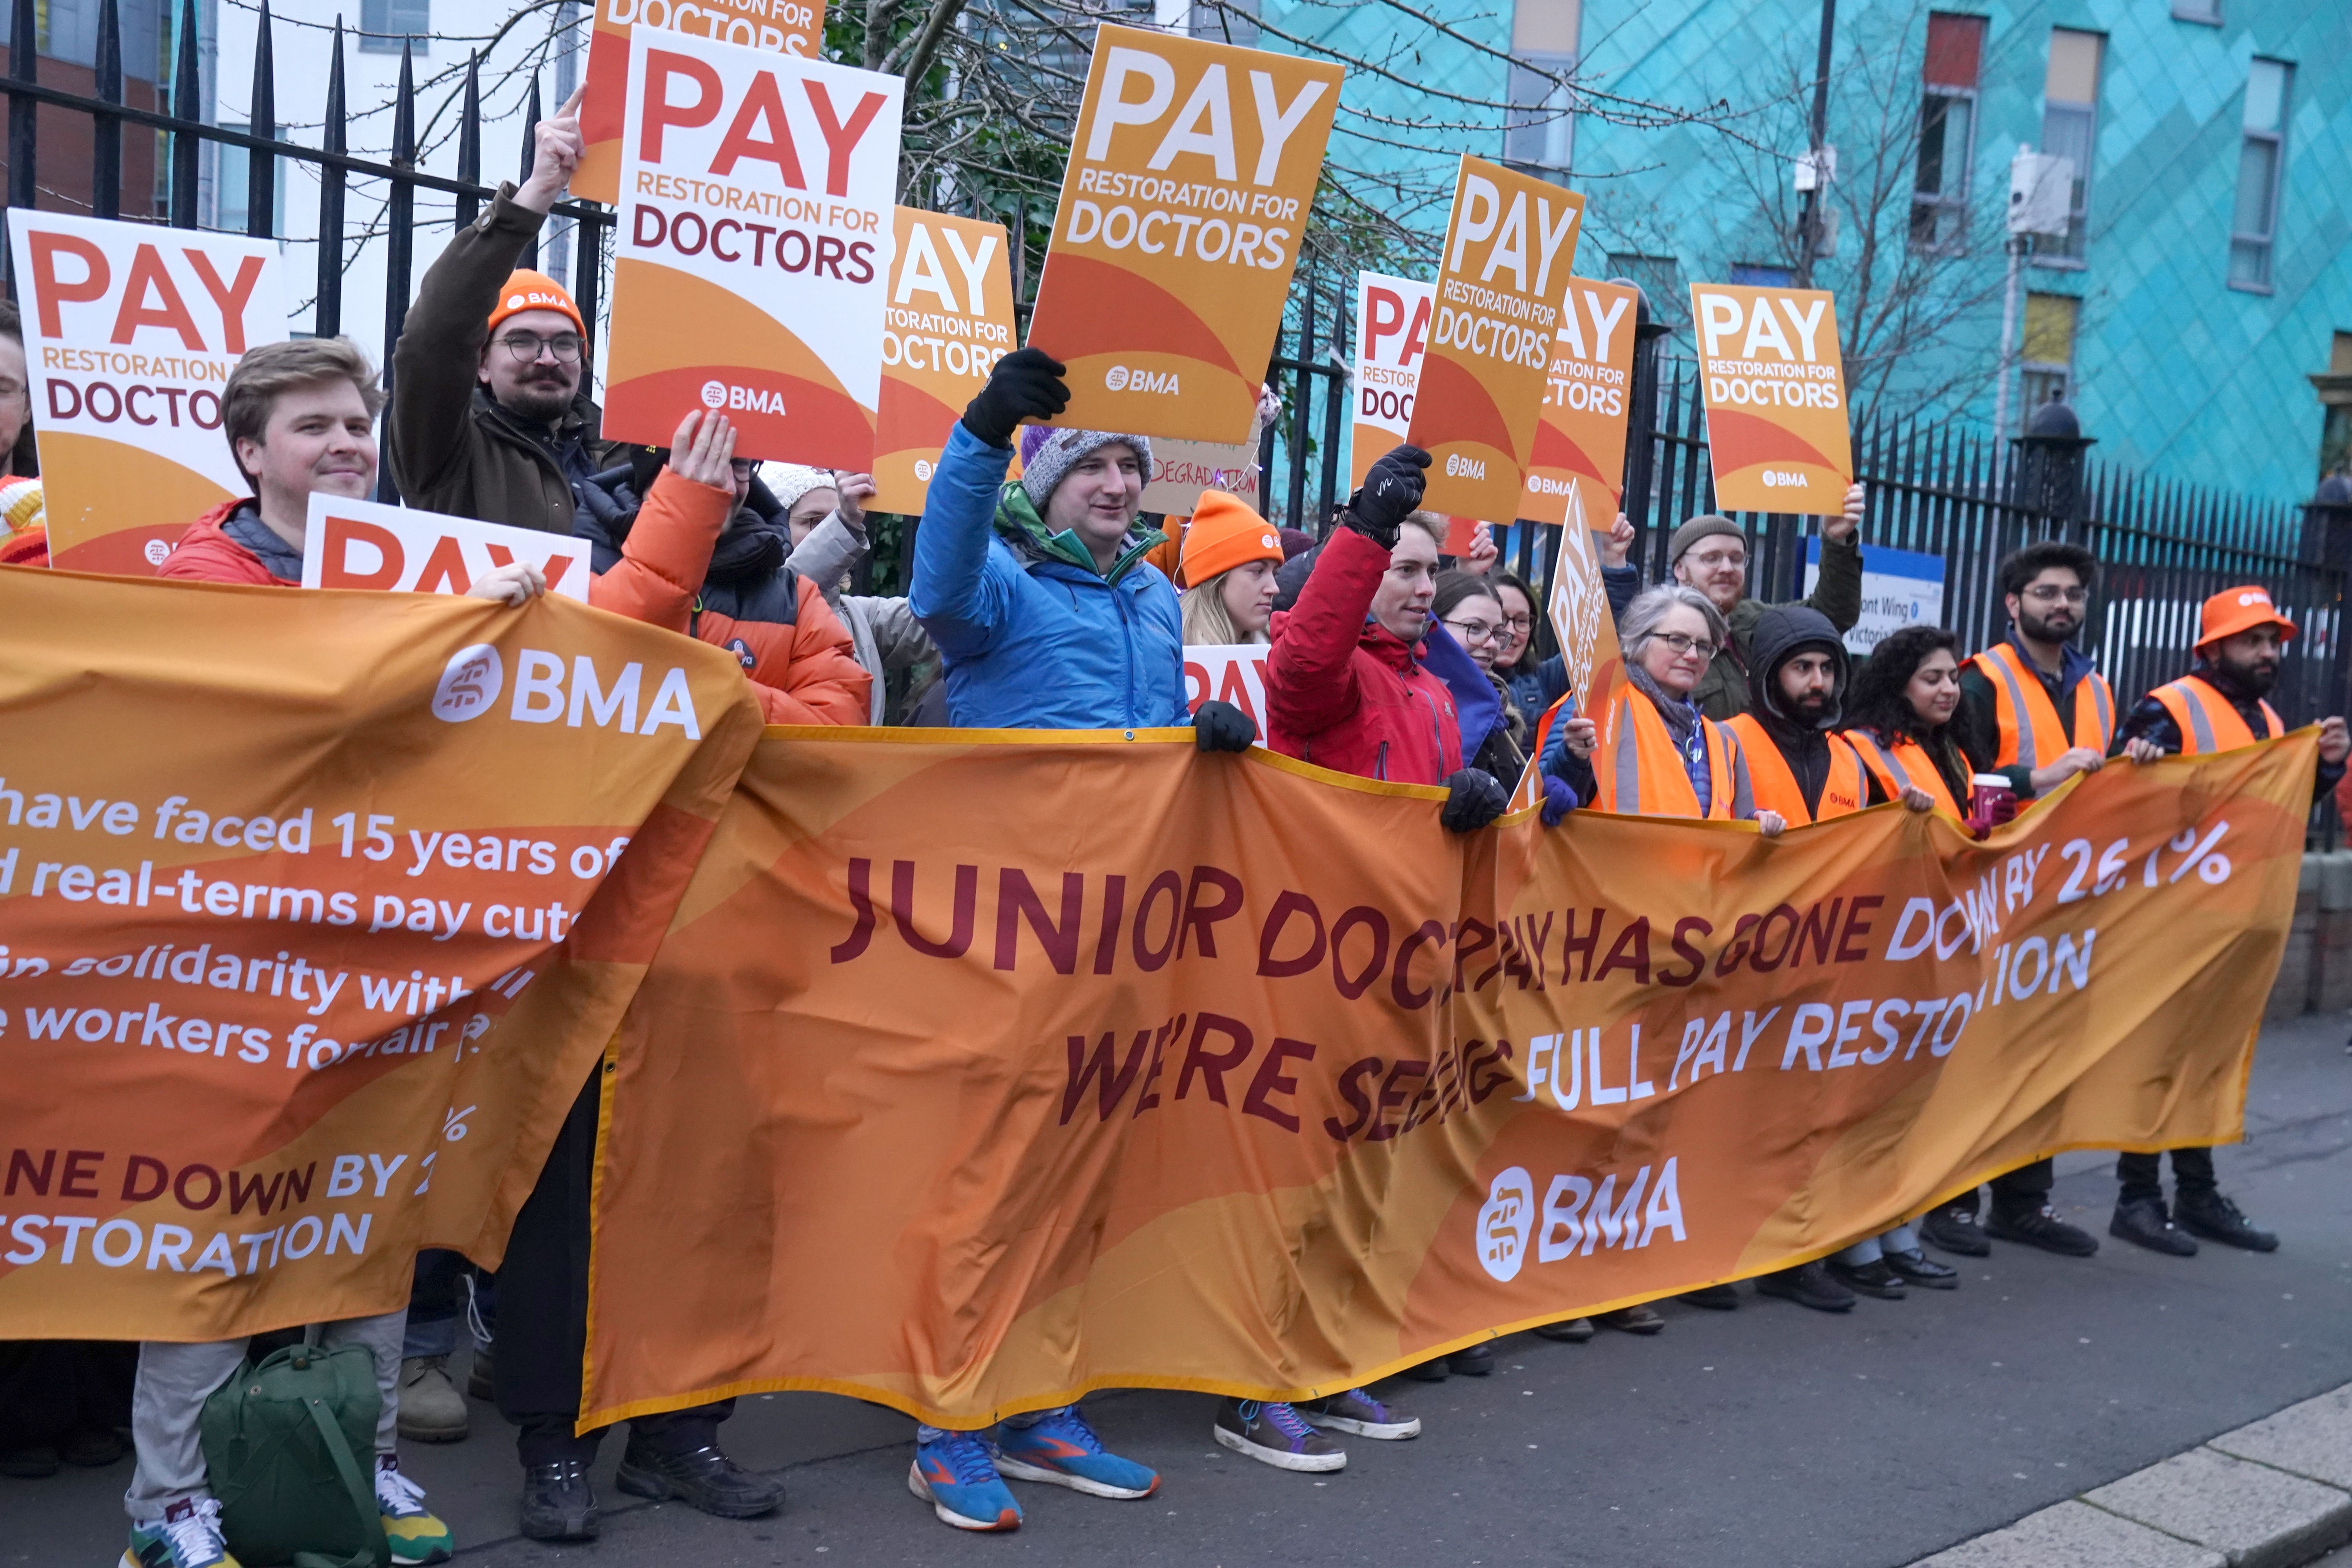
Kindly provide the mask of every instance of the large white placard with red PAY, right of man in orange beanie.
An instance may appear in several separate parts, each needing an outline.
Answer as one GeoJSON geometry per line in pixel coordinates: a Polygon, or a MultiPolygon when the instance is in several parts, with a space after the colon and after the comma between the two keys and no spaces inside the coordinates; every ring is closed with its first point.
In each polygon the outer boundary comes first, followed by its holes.
{"type": "Polygon", "coordinates": [[[717,409],[739,458],[870,470],[901,80],[652,28],[630,49],[604,437],[717,409]]]}

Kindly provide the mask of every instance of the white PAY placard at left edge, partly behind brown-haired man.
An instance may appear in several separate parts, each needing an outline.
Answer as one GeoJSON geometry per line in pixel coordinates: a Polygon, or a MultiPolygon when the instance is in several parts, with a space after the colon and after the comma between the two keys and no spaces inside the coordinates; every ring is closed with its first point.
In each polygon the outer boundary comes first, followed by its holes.
{"type": "Polygon", "coordinates": [[[49,564],[153,576],[252,494],[221,435],[238,355],[287,336],[275,240],[9,209],[49,564]]]}

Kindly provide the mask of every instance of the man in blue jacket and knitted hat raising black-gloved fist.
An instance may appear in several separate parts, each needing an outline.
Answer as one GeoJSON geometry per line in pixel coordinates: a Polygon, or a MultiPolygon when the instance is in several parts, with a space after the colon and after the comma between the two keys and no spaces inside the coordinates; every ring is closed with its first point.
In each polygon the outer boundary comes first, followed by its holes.
{"type": "MultiPolygon", "coordinates": [[[[1138,527],[1152,444],[1061,430],[1063,367],[1040,348],[997,360],[948,433],[915,534],[908,595],[948,663],[957,729],[1155,729],[1192,724],[1204,752],[1244,752],[1256,726],[1232,703],[1185,717],[1176,588],[1138,527]],[[1021,430],[1021,480],[1004,482],[1021,430]]],[[[960,1530],[1011,1530],[1021,1507],[1002,1476],[1094,1497],[1150,1497],[1148,1465],[1103,1450],[1077,1406],[1014,1415],[988,1432],[917,1427],[908,1490],[960,1530]]]]}

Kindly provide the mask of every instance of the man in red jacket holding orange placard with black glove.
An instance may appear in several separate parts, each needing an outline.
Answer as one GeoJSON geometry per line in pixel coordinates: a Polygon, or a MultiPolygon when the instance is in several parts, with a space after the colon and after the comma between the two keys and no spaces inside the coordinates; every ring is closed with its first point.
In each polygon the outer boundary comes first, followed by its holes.
{"type": "MultiPolygon", "coordinates": [[[[1265,743],[1287,757],[1359,778],[1442,783],[1454,832],[1484,827],[1510,790],[1463,766],[1463,722],[1484,733],[1491,712],[1458,712],[1432,663],[1461,654],[1435,625],[1439,536],[1416,517],[1430,454],[1397,447],[1364,475],[1324,541],[1298,604],[1275,616],[1265,658],[1265,743]]],[[[1477,668],[1461,663],[1477,675],[1477,668]]]]}

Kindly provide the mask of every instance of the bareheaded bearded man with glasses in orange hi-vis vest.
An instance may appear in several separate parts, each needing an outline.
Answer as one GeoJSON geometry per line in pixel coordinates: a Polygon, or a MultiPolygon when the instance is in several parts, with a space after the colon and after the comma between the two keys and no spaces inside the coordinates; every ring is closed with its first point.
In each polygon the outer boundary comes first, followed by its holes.
{"type": "MultiPolygon", "coordinates": [[[[2020,802],[2093,773],[2114,736],[2114,693],[2070,646],[2082,630],[2098,557],[2082,545],[2042,541],[2002,562],[2009,637],[1959,668],[1952,731],[1978,773],[2006,773],[2020,802]]],[[[1959,802],[1966,809],[1966,802],[1959,802]]],[[[2089,1258],[2098,1237],[2051,1208],[2051,1161],[2037,1159],[1992,1178],[1992,1213],[1978,1225],[1976,1192],[1964,1192],[1922,1220],[1919,1232],[1947,1253],[1983,1258],[1985,1237],[2023,1241],[2065,1258],[2089,1258]]]]}

